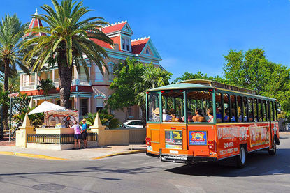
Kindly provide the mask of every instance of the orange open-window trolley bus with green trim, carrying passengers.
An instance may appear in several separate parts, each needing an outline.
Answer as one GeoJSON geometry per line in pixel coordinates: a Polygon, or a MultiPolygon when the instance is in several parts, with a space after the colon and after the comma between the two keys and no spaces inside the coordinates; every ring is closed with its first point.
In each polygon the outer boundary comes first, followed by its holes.
{"type": "Polygon", "coordinates": [[[209,80],[187,80],[146,93],[147,155],[192,164],[268,150],[279,141],[277,101],[209,80]]]}

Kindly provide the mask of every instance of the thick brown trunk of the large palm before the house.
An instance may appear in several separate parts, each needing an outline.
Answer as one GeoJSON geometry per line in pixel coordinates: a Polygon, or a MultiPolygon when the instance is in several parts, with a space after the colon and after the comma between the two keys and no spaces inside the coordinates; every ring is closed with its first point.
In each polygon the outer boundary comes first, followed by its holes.
{"type": "Polygon", "coordinates": [[[68,108],[69,98],[71,96],[71,77],[73,75],[73,67],[59,65],[59,95],[61,107],[68,108]]]}

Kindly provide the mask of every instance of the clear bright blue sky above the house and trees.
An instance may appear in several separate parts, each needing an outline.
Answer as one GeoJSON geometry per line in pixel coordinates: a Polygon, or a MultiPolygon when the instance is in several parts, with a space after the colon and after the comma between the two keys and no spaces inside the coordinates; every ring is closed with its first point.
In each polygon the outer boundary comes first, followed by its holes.
{"type": "MultiPolygon", "coordinates": [[[[173,73],[222,75],[229,49],[263,48],[270,61],[290,65],[290,1],[90,1],[84,5],[113,23],[128,20],[132,38],[150,36],[173,73]]],[[[1,1],[0,15],[17,13],[30,22],[36,8],[50,0],[1,1]]]]}

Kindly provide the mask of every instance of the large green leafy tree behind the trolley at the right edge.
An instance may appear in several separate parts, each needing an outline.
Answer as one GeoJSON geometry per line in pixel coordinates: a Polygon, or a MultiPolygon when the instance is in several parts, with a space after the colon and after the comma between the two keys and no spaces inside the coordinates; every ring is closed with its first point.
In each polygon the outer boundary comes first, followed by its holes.
{"type": "Polygon", "coordinates": [[[266,59],[263,49],[230,50],[224,56],[224,77],[230,84],[277,98],[290,116],[290,69],[266,59]]]}

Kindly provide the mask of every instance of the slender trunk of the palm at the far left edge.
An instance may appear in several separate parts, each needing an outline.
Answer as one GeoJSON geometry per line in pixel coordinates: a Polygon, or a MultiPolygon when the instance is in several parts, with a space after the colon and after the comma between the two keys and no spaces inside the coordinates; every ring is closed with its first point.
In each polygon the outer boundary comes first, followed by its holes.
{"type": "MultiPolygon", "coordinates": [[[[9,63],[8,59],[4,60],[4,91],[8,91],[8,79],[9,79],[9,63]]],[[[3,129],[8,130],[8,105],[3,105],[3,128],[0,129],[0,140],[3,139],[3,129]]]]}

